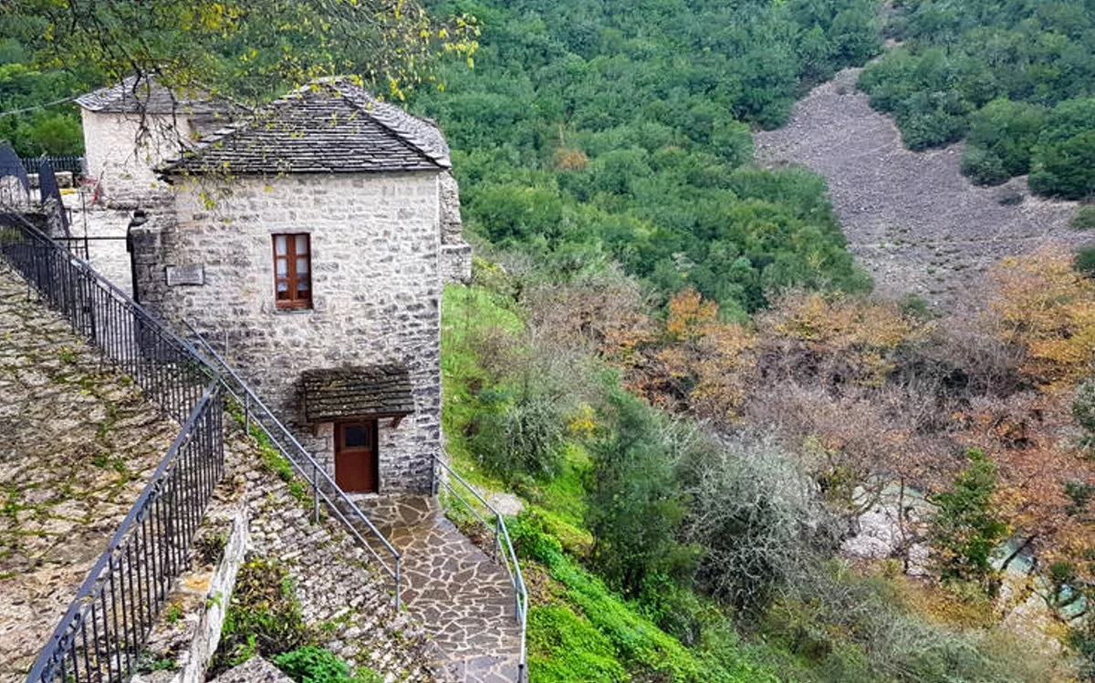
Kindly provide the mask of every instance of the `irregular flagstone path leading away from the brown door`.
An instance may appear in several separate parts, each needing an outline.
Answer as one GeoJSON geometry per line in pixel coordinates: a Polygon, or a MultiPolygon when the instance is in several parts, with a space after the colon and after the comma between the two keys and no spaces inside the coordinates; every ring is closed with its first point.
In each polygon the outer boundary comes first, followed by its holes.
{"type": "Polygon", "coordinates": [[[366,503],[403,558],[403,602],[453,680],[518,679],[520,628],[506,569],[446,519],[434,498],[366,503]]]}

